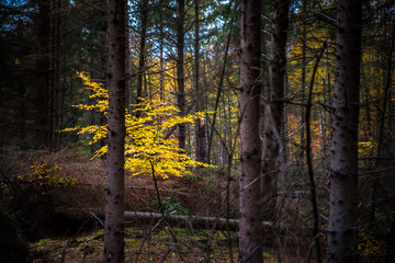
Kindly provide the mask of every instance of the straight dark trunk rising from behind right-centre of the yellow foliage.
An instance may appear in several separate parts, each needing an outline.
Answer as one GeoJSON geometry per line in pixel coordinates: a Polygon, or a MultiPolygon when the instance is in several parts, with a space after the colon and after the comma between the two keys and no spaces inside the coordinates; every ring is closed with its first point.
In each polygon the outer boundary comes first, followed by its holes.
{"type": "MultiPolygon", "coordinates": [[[[183,46],[184,46],[184,15],[185,2],[178,0],[179,15],[177,21],[177,104],[180,108],[180,116],[185,115],[185,91],[184,91],[184,70],[183,70],[183,46]]],[[[185,150],[187,128],[185,124],[179,124],[179,148],[185,150]]]]}

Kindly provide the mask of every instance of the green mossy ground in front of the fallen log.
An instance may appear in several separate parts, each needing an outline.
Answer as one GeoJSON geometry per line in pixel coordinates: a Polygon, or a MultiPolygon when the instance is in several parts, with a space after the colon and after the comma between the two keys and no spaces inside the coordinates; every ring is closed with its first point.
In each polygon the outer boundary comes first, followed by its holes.
{"type": "MultiPolygon", "coordinates": [[[[147,235],[147,229],[127,228],[125,232],[125,262],[230,262],[229,245],[223,232],[217,232],[207,244],[210,232],[194,235],[184,229],[169,228],[147,235]],[[177,241],[170,231],[177,236],[177,241]],[[177,245],[176,242],[178,243],[177,245]],[[208,249],[210,248],[210,249],[208,249]]],[[[33,262],[101,262],[103,230],[72,238],[47,238],[31,243],[33,262]]],[[[276,262],[275,254],[267,252],[266,262],[276,262]]],[[[237,262],[237,247],[233,247],[237,262]]],[[[287,261],[283,261],[287,262],[287,261]]],[[[289,261],[292,262],[292,261],[289,261]]]]}

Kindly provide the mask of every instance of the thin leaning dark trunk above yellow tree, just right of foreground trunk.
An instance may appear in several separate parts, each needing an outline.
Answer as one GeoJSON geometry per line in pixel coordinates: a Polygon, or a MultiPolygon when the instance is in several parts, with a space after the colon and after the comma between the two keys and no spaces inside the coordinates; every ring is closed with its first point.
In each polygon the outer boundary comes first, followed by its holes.
{"type": "MultiPolygon", "coordinates": [[[[148,0],[140,1],[140,46],[139,46],[139,59],[138,59],[138,75],[137,75],[137,103],[143,98],[143,84],[144,84],[144,70],[146,67],[146,38],[147,38],[147,23],[148,23],[148,0]]],[[[136,113],[139,116],[139,112],[136,113]]]]}

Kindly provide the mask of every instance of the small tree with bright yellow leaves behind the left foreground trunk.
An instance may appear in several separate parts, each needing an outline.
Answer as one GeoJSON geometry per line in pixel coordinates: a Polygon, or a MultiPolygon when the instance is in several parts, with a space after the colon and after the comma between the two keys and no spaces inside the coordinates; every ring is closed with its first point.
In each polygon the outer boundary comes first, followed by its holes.
{"type": "MultiPolygon", "coordinates": [[[[108,114],[109,93],[102,84],[91,81],[83,73],[77,72],[82,79],[86,89],[92,91],[90,99],[94,104],[74,105],[84,111],[98,111],[108,114]]],[[[151,174],[155,176],[169,175],[182,176],[190,173],[191,167],[211,167],[206,163],[192,160],[182,149],[176,145],[176,140],[166,136],[167,130],[178,124],[193,123],[195,118],[204,117],[205,113],[195,113],[180,117],[179,110],[158,100],[142,100],[142,103],[134,105],[134,113],[139,111],[140,117],[136,117],[126,112],[125,125],[125,168],[133,175],[151,174]]],[[[126,110],[125,110],[126,111],[126,110]]],[[[78,134],[91,134],[90,145],[98,142],[106,137],[106,125],[90,125],[87,127],[66,128],[63,132],[78,130],[78,134]]],[[[99,149],[93,158],[106,152],[106,146],[99,149]]]]}

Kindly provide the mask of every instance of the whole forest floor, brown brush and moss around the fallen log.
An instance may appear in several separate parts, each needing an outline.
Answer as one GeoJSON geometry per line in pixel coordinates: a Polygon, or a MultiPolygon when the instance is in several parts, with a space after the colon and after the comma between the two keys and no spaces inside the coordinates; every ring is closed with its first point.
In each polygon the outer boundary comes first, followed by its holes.
{"type": "MultiPolygon", "coordinates": [[[[29,241],[33,262],[101,262],[105,160],[90,160],[87,156],[75,149],[0,150],[0,206],[9,210],[12,224],[29,241]]],[[[219,168],[191,172],[192,175],[157,180],[165,213],[239,217],[237,171],[229,175],[219,168]]],[[[132,176],[127,171],[126,175],[125,210],[159,213],[153,176],[132,176]]],[[[281,197],[279,201],[281,222],[286,227],[281,235],[264,229],[266,262],[278,262],[279,258],[282,262],[301,262],[312,251],[311,238],[294,230],[308,226],[308,199],[301,198],[298,204],[281,197]]],[[[127,219],[125,262],[237,262],[237,232],[223,229],[216,224],[203,228],[172,225],[170,218],[127,219]]],[[[385,262],[386,236],[366,237],[361,242],[365,262],[385,262]]],[[[387,239],[393,240],[393,236],[387,239]]]]}

